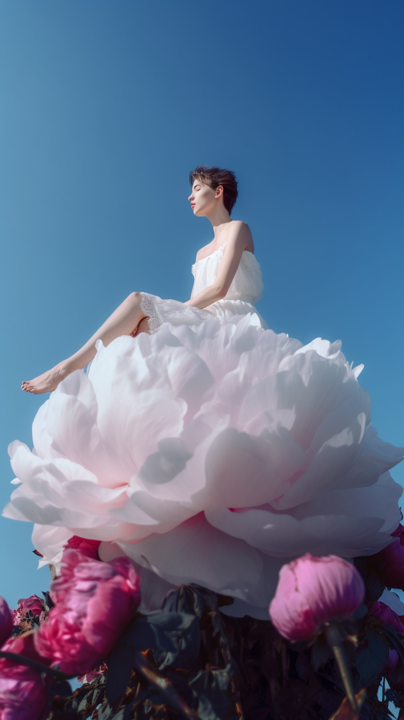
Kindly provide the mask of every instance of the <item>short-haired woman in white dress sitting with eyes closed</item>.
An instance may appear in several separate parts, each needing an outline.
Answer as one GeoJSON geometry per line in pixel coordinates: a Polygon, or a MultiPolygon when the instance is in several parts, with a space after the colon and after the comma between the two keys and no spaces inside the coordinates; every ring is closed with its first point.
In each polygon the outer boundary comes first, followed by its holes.
{"type": "Polygon", "coordinates": [[[162,323],[200,325],[209,318],[207,312],[222,323],[233,315],[252,312],[258,324],[266,327],[253,307],[263,289],[253,237],[245,222],[230,217],[238,194],[234,173],[201,165],[190,173],[190,185],[188,200],[193,214],[208,217],[214,228],[214,239],[196,256],[190,300],[183,303],[132,292],[78,352],[39,377],[22,382],[22,390],[35,395],[55,390],[71,372],[92,361],[98,339],[107,346],[122,335],[155,333],[162,323]]]}

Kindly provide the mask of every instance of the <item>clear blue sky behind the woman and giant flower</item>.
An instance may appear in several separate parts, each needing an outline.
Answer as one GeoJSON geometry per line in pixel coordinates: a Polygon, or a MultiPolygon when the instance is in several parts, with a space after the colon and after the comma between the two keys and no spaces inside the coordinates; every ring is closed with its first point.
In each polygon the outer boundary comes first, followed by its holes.
{"type": "MultiPolygon", "coordinates": [[[[270,327],[342,338],[403,444],[403,1],[2,0],[0,27],[0,504],[22,379],[132,290],[189,297],[198,163],[237,172],[270,327]]],[[[30,532],[1,518],[11,603],[48,586],[30,532]]]]}

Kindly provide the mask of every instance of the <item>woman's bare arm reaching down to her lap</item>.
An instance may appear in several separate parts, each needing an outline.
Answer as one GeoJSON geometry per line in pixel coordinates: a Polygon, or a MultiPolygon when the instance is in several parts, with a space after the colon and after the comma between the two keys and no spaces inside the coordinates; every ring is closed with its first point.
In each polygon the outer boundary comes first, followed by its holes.
{"type": "Polygon", "coordinates": [[[241,222],[241,220],[232,223],[227,235],[223,260],[219,265],[214,283],[206,287],[202,292],[198,292],[190,300],[187,300],[185,305],[199,307],[203,310],[204,307],[212,305],[213,302],[222,300],[232,284],[234,275],[240,265],[242,253],[246,249],[252,250],[253,247],[253,236],[247,223],[241,222]]]}

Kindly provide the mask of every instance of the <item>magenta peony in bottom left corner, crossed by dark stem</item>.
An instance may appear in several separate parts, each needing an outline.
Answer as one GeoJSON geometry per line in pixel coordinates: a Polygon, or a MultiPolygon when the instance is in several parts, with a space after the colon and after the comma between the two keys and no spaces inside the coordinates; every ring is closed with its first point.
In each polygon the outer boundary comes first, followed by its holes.
{"type": "MultiPolygon", "coordinates": [[[[49,665],[49,661],[40,657],[34,647],[33,632],[10,638],[1,649],[49,665]]],[[[32,667],[0,658],[0,719],[39,720],[52,682],[52,678],[41,677],[40,672],[32,667]]]]}

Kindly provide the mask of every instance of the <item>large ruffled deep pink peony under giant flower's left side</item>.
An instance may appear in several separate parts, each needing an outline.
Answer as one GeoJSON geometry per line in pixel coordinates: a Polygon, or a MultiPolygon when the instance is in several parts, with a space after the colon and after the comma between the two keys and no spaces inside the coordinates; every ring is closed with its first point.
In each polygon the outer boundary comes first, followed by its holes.
{"type": "Polygon", "coordinates": [[[135,615],[140,578],[127,557],[108,563],[67,549],[51,598],[35,647],[69,675],[83,675],[105,660],[135,615]]]}

